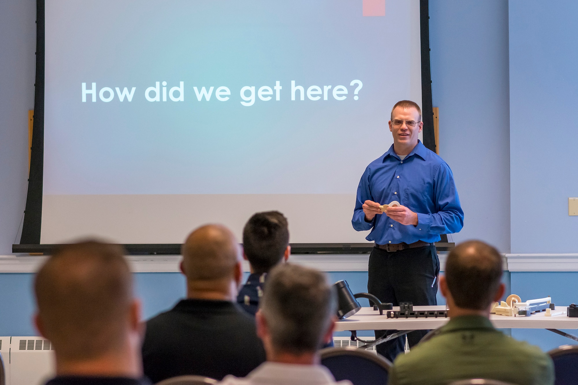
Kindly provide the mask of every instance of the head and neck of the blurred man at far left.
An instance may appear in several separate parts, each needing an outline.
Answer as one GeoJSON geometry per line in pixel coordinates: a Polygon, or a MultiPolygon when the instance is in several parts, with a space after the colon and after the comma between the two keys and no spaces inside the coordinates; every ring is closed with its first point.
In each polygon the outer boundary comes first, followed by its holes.
{"type": "Polygon", "coordinates": [[[36,274],[35,324],[50,340],[47,385],[139,385],[143,324],[122,248],[97,241],[53,252],[36,274]]]}

